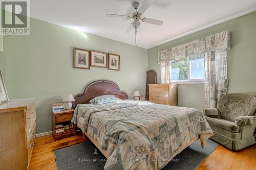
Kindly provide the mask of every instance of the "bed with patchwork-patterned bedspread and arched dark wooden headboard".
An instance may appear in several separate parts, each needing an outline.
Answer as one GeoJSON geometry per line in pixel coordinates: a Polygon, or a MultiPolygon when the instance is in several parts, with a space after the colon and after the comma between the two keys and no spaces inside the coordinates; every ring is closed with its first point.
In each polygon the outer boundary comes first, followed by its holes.
{"type": "Polygon", "coordinates": [[[213,135],[197,109],[135,102],[111,81],[95,81],[76,95],[72,122],[108,158],[104,169],[161,169],[200,138],[213,135]],[[111,94],[121,102],[93,105],[111,94]]]}

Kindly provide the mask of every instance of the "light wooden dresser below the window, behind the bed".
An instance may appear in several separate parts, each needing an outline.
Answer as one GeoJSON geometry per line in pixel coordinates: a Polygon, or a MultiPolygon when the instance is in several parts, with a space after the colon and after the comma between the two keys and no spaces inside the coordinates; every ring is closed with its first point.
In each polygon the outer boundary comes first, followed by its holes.
{"type": "Polygon", "coordinates": [[[148,84],[150,87],[150,102],[177,106],[177,85],[148,84]]]}

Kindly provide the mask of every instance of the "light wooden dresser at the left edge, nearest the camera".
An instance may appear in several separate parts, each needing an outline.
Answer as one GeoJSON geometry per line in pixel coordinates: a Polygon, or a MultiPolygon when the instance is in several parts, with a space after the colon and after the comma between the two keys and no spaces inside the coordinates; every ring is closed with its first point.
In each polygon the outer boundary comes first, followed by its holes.
{"type": "Polygon", "coordinates": [[[0,105],[0,169],[28,169],[36,132],[36,99],[0,105]]]}

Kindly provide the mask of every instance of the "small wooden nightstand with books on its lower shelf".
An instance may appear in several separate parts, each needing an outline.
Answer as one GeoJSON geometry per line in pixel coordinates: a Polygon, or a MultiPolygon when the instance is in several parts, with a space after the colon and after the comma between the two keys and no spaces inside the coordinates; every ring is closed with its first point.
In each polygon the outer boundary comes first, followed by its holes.
{"type": "Polygon", "coordinates": [[[75,124],[71,123],[74,109],[52,113],[52,136],[54,140],[76,134],[75,124]]]}

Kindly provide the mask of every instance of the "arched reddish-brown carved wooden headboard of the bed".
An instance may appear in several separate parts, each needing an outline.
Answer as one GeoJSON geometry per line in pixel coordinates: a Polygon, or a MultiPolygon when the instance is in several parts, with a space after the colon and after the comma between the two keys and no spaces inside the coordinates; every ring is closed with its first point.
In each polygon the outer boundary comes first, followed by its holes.
{"type": "Polygon", "coordinates": [[[120,90],[118,85],[109,80],[97,80],[90,83],[83,91],[83,93],[74,96],[75,102],[73,107],[77,104],[87,104],[89,101],[100,95],[115,95],[119,99],[128,99],[127,93],[120,90]]]}

